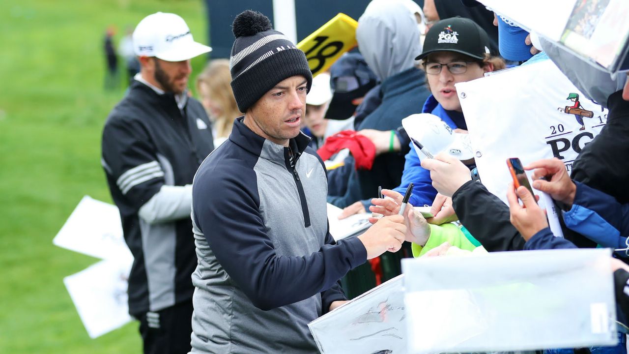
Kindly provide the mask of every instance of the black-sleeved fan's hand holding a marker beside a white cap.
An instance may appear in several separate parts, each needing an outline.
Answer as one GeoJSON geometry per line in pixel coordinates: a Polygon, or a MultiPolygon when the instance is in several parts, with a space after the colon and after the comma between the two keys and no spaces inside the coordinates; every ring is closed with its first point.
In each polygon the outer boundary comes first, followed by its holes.
{"type": "Polygon", "coordinates": [[[460,186],[472,180],[467,166],[443,152],[435,156],[434,159],[423,159],[421,167],[430,169],[433,187],[446,197],[452,197],[460,186]]]}

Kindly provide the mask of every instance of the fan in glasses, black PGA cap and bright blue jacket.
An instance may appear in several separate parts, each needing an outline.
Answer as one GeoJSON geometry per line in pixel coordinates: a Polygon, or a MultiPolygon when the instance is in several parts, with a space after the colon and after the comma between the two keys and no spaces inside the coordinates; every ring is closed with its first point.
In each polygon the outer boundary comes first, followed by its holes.
{"type": "MultiPolygon", "coordinates": [[[[487,33],[474,21],[460,17],[441,20],[431,26],[426,33],[423,52],[416,57],[416,60],[422,60],[431,92],[431,96],[423,106],[423,113],[436,115],[458,132],[467,132],[467,124],[454,84],[478,79],[486,72],[504,69],[504,60],[490,54],[487,33]]],[[[460,166],[459,163],[451,166],[455,168],[457,165],[460,166]]],[[[454,169],[452,174],[446,174],[448,178],[456,178],[455,171],[460,172],[460,169],[454,169]]],[[[469,174],[465,178],[469,180],[469,174]]],[[[401,184],[394,191],[404,193],[411,182],[414,187],[409,203],[412,205],[433,205],[444,202],[452,205],[452,202],[448,202],[443,196],[435,200],[437,190],[431,184],[430,171],[420,166],[420,159],[412,148],[406,154],[401,184]],[[435,200],[434,203],[433,200],[435,200]]],[[[385,195],[391,193],[390,197],[397,195],[391,191],[383,193],[385,195]]],[[[370,210],[381,212],[381,208],[378,207],[381,202],[384,200],[374,200],[376,207],[370,207],[370,210]]],[[[445,212],[445,208],[442,212],[445,212]]],[[[452,215],[440,215],[442,212],[435,215],[435,218],[429,222],[439,224],[443,220],[448,220],[445,217],[452,218],[452,215]]]]}

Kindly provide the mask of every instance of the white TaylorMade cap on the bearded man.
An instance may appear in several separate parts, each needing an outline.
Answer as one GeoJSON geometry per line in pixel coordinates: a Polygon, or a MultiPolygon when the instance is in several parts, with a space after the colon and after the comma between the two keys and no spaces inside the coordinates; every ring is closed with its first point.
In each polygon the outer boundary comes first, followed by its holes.
{"type": "Polygon", "coordinates": [[[190,28],[181,16],[174,13],[154,13],[143,18],[135,27],[133,50],[138,56],[180,62],[212,49],[194,42],[190,28]]]}

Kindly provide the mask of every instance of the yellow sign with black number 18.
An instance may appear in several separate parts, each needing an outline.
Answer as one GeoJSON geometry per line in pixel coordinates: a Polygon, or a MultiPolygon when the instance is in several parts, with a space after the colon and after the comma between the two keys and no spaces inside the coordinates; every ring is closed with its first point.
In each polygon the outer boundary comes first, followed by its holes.
{"type": "Polygon", "coordinates": [[[297,47],[306,54],[313,76],[328,70],[343,53],[356,47],[357,27],[356,20],[339,13],[298,43],[297,47]]]}

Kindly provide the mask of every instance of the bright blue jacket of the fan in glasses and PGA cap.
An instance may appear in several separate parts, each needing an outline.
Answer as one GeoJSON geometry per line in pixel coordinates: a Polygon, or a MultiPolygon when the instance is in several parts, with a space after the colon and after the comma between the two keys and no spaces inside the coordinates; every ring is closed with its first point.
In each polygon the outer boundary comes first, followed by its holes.
{"type": "MultiPolygon", "coordinates": [[[[454,120],[450,118],[448,112],[435,100],[435,97],[430,95],[426,103],[424,104],[421,113],[432,113],[441,118],[443,122],[446,122],[450,128],[458,128],[454,120]]],[[[413,144],[411,142],[411,144],[413,144]]],[[[406,163],[404,164],[404,172],[402,174],[402,181],[398,187],[394,190],[401,194],[404,194],[408,184],[413,182],[413,195],[409,199],[409,203],[415,206],[432,205],[437,190],[432,186],[432,180],[430,179],[430,171],[420,166],[420,157],[417,156],[417,152],[411,146],[411,151],[406,154],[406,163]]]]}

